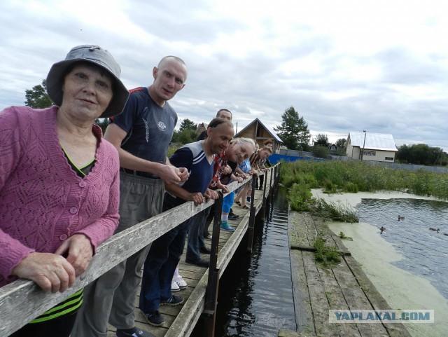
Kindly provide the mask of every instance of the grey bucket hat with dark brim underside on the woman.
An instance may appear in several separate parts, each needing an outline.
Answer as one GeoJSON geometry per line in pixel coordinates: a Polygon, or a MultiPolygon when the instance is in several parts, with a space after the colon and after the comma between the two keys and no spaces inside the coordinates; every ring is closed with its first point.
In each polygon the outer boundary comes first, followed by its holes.
{"type": "Polygon", "coordinates": [[[107,118],[121,114],[125,108],[129,91],[122,81],[120,81],[120,65],[113,58],[111,53],[104,48],[94,45],[83,45],[71,48],[65,60],[52,65],[47,76],[47,92],[57,106],[62,104],[62,85],[64,76],[73,63],[90,62],[105,69],[115,82],[113,85],[113,97],[111,103],[99,117],[107,118]]]}

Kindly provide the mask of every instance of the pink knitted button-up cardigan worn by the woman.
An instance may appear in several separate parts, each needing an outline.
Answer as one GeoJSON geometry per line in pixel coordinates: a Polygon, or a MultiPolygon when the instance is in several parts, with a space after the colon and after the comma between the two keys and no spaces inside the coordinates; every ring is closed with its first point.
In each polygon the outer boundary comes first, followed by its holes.
{"type": "Polygon", "coordinates": [[[55,252],[76,233],[96,249],[118,226],[117,150],[94,125],[96,162],[78,177],[59,145],[57,109],[0,112],[0,287],[31,252],[55,252]]]}

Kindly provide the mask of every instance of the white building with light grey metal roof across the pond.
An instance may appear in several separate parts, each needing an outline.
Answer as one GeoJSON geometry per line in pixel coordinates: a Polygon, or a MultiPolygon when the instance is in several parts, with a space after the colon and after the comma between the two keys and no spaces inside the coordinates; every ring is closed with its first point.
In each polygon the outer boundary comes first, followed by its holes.
{"type": "Polygon", "coordinates": [[[346,142],[347,156],[352,159],[393,163],[398,151],[393,136],[386,133],[350,132],[346,142]]]}

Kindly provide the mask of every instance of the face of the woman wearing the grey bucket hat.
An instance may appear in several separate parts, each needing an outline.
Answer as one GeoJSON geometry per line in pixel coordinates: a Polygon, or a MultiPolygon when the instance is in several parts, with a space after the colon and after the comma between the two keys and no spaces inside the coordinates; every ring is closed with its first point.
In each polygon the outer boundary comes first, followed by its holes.
{"type": "Polygon", "coordinates": [[[63,111],[82,120],[94,121],[111,102],[112,79],[99,67],[79,64],[66,74],[62,91],[63,111]]]}

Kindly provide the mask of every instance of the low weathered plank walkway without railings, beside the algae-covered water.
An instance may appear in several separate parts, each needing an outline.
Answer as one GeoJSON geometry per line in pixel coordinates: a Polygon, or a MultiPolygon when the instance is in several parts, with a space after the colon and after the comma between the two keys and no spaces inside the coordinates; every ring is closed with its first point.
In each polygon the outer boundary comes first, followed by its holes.
{"type": "Polygon", "coordinates": [[[328,310],[390,307],[322,219],[290,211],[288,221],[297,331],[279,331],[279,336],[410,336],[403,324],[330,324],[328,310]],[[344,253],[334,268],[323,268],[314,261],[311,247],[317,236],[344,253]]]}

